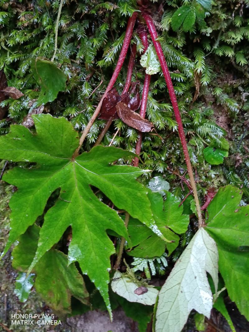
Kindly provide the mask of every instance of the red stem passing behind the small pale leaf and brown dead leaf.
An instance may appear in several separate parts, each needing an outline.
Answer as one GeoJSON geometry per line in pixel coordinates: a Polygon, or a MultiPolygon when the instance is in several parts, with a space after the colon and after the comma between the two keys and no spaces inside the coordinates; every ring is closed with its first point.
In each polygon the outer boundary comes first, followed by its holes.
{"type": "MultiPolygon", "coordinates": [[[[144,46],[144,52],[149,46],[148,42],[148,37],[147,37],[147,32],[143,30],[142,32],[139,33],[139,37],[141,38],[141,41],[144,46]]],[[[142,99],[141,99],[141,108],[140,108],[140,116],[142,118],[145,118],[145,113],[146,113],[146,105],[147,105],[147,99],[148,99],[148,93],[149,93],[149,85],[150,85],[150,75],[145,74],[144,77],[144,84],[143,84],[143,93],[142,93],[142,99]]],[[[143,134],[140,132],[138,135],[138,140],[136,142],[136,154],[139,155],[141,152],[141,145],[142,145],[142,138],[143,134]]],[[[139,164],[139,159],[138,157],[134,158],[133,166],[138,167],[139,164]]]]}

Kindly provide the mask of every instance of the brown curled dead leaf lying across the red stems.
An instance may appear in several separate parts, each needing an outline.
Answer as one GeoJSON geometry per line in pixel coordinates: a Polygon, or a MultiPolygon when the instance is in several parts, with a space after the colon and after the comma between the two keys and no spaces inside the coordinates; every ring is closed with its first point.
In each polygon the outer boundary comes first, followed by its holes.
{"type": "Polygon", "coordinates": [[[119,102],[116,106],[118,116],[128,126],[142,132],[151,131],[154,125],[143,119],[139,114],[133,112],[126,104],[119,102]]]}

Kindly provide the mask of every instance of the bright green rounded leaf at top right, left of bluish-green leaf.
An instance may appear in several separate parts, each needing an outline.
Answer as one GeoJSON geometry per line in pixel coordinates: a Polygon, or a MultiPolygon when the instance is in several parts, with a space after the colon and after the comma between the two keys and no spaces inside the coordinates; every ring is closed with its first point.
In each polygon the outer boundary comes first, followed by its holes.
{"type": "Polygon", "coordinates": [[[190,5],[185,5],[177,9],[172,16],[171,26],[174,31],[181,27],[183,31],[189,31],[196,21],[195,8],[190,5]]]}

